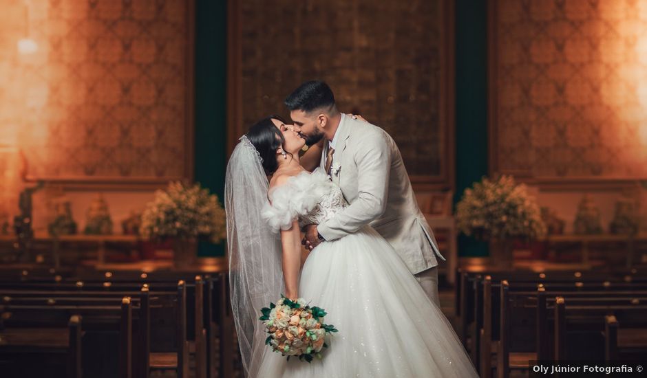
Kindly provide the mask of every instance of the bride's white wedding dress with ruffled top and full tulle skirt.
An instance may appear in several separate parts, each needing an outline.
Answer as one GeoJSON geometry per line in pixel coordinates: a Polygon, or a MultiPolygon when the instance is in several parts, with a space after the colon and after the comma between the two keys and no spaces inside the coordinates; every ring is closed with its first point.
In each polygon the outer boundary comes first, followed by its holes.
{"type": "MultiPolygon", "coordinates": [[[[319,224],[347,206],[323,170],[273,188],[263,218],[274,230],[319,224]]],[[[311,363],[264,348],[257,377],[478,377],[445,315],[391,245],[371,227],[319,244],[301,271],[299,296],[339,330],[311,363]]]]}

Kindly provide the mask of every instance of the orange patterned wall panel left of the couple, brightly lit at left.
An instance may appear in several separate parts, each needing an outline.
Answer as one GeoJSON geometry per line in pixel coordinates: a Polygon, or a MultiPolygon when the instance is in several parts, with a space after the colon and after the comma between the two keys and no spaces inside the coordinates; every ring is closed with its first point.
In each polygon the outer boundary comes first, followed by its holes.
{"type": "Polygon", "coordinates": [[[36,177],[184,177],[184,0],[1,0],[0,127],[36,177]],[[19,38],[38,44],[19,54],[19,38]]]}

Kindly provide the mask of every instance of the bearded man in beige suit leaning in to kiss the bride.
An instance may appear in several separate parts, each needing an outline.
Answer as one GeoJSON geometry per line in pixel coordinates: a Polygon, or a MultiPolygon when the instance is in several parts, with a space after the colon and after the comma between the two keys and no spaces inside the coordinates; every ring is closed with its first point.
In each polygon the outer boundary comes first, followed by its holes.
{"type": "Polygon", "coordinates": [[[321,241],[334,241],[371,225],[391,243],[427,296],[440,306],[436,256],[445,259],[418,208],[394,140],[378,126],[340,113],[325,82],[304,82],[285,104],[295,131],[306,144],[325,138],[321,168],[350,203],[328,221],[307,226],[306,246],[312,249],[321,241]]]}

